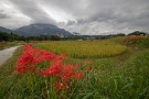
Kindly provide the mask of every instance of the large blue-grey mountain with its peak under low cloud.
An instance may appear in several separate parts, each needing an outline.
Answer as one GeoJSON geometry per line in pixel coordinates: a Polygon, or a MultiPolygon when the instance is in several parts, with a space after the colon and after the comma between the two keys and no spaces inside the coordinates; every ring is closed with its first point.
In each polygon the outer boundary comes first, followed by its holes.
{"type": "Polygon", "coordinates": [[[19,28],[13,31],[18,35],[23,36],[39,36],[39,35],[61,35],[61,36],[72,36],[73,34],[64,29],[60,29],[53,24],[30,24],[26,26],[19,28]]]}

